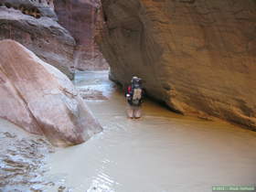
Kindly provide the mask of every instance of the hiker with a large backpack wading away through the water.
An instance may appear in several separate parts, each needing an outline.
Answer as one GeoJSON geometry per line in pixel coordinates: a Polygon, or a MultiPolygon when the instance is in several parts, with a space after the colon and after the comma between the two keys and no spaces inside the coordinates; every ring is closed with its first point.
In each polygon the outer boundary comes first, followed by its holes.
{"type": "Polygon", "coordinates": [[[143,102],[142,79],[133,77],[131,85],[126,91],[127,115],[130,118],[140,118],[142,116],[141,105],[143,102]]]}

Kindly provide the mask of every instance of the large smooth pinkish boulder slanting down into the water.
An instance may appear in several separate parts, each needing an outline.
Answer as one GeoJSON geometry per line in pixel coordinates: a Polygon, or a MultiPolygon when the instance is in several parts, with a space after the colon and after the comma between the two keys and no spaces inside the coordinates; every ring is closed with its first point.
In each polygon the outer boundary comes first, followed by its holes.
{"type": "Polygon", "coordinates": [[[101,125],[71,81],[13,40],[0,42],[0,117],[52,144],[80,144],[101,125]]]}

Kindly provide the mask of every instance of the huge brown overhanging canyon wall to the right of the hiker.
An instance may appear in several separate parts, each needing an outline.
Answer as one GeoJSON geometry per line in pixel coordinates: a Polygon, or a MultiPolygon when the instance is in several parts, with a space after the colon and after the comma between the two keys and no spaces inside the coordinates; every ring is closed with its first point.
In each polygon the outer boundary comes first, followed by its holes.
{"type": "Polygon", "coordinates": [[[176,112],[256,130],[253,0],[102,0],[112,80],[133,75],[176,112]]]}

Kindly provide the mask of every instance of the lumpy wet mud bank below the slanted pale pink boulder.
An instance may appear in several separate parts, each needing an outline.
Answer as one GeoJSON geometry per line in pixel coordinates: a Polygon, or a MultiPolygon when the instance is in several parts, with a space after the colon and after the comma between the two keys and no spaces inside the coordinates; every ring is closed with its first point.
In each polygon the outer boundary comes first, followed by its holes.
{"type": "Polygon", "coordinates": [[[46,138],[0,118],[0,191],[69,191],[61,176],[49,175],[55,152],[46,138]]]}

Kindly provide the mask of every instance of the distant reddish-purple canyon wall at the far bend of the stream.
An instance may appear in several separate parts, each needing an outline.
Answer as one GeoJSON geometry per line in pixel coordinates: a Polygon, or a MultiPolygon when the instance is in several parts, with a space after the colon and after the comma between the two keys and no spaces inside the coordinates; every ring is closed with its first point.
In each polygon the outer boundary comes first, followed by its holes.
{"type": "Polygon", "coordinates": [[[100,0],[57,0],[54,2],[61,26],[76,40],[75,69],[108,69],[94,36],[102,24],[100,0]]]}

